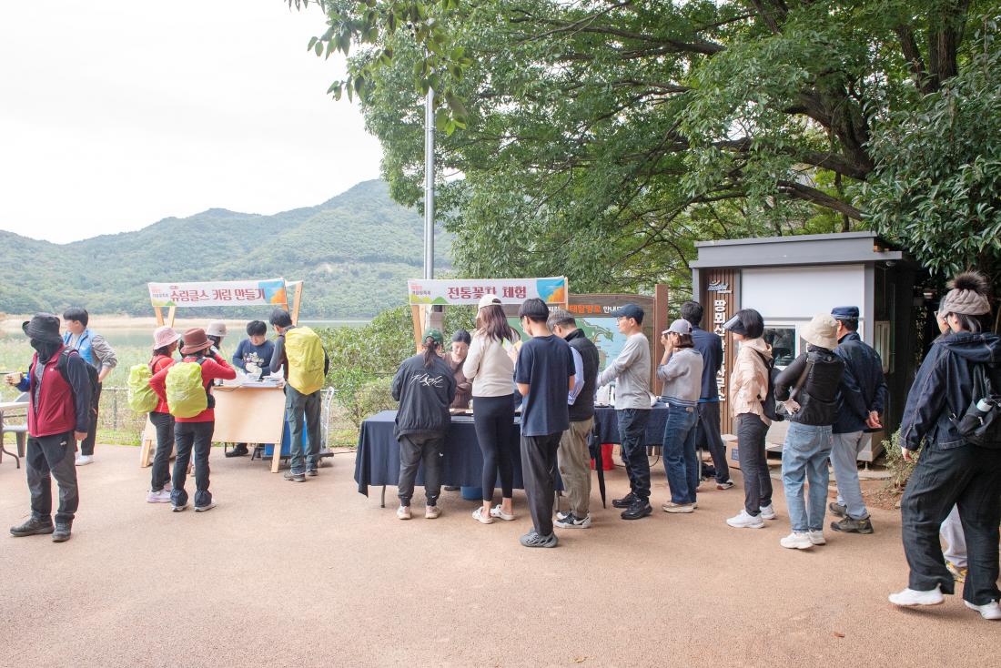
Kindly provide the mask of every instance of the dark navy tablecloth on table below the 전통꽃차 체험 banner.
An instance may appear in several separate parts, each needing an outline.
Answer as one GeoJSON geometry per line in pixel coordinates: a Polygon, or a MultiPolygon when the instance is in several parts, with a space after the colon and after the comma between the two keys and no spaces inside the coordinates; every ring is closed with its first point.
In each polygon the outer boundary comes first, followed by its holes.
{"type": "MultiPolygon", "coordinates": [[[[392,436],[395,411],[382,411],[361,423],[358,450],[354,459],[354,482],[358,492],[368,495],[369,485],[392,485],[399,482],[399,443],[392,436]]],[[[516,419],[517,421],[518,419],[516,419]]],[[[663,430],[662,430],[663,431],[663,430]]],[[[512,430],[509,444],[515,468],[515,488],[525,489],[522,478],[520,428],[512,430]]],[[[482,484],[483,457],[476,442],[476,432],[469,418],[452,418],[444,442],[442,485],[479,487],[482,484]]],[[[559,487],[559,474],[558,489],[559,487]]],[[[417,471],[416,485],[423,485],[423,467],[417,471]]],[[[499,488],[499,481],[496,486],[499,488]]],[[[499,492],[499,490],[497,490],[499,492]]]]}

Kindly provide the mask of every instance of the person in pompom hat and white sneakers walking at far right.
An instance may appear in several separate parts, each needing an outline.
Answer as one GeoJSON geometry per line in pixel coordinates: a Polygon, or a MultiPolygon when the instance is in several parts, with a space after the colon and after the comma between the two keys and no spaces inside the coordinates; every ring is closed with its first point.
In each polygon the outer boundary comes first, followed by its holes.
{"type": "MultiPolygon", "coordinates": [[[[956,276],[937,316],[949,333],[937,339],[907,395],[900,427],[906,461],[924,450],[901,500],[908,586],[891,594],[898,606],[938,605],[955,591],[939,530],[958,507],[966,538],[963,600],[984,619],[1001,620],[998,599],[998,525],[1001,524],[1001,439],[997,432],[963,436],[959,424],[971,404],[1001,389],[1001,338],[990,331],[991,305],[983,274],[956,276]],[[978,445],[979,444],[979,445],[978,445]]],[[[993,407],[983,410],[999,411],[993,407]]]]}

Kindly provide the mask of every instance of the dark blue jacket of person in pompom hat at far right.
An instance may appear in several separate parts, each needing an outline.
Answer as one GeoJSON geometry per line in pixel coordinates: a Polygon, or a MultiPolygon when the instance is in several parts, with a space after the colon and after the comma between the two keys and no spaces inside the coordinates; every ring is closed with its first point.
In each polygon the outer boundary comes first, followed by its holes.
{"type": "Polygon", "coordinates": [[[943,450],[966,445],[952,418],[961,418],[973,399],[973,365],[1001,372],[1001,339],[961,331],[940,337],[925,356],[900,427],[900,445],[917,450],[927,439],[943,450]]]}

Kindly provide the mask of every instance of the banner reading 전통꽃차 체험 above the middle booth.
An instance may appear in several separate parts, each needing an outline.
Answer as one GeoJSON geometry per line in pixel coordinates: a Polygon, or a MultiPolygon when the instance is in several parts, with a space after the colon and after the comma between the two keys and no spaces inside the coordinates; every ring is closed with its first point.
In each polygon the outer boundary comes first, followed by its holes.
{"type": "Polygon", "coordinates": [[[408,280],[411,304],[442,303],[475,305],[483,294],[494,294],[500,303],[522,303],[539,297],[546,303],[567,301],[567,277],[467,278],[460,280],[408,280]]]}

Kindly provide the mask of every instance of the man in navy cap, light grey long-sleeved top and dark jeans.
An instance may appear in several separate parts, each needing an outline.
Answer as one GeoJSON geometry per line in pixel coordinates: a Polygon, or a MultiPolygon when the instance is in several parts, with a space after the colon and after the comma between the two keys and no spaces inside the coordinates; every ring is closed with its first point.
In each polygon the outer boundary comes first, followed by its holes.
{"type": "Polygon", "coordinates": [[[650,341],[643,333],[643,308],[627,303],[615,311],[619,331],[626,335],[622,353],[598,377],[598,386],[617,381],[616,418],[630,493],[613,499],[625,508],[624,520],[639,520],[654,512],[650,507],[650,460],[647,459],[647,423],[650,422],[650,341]]]}

